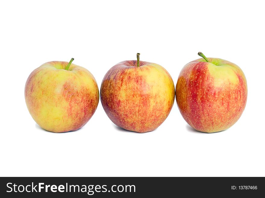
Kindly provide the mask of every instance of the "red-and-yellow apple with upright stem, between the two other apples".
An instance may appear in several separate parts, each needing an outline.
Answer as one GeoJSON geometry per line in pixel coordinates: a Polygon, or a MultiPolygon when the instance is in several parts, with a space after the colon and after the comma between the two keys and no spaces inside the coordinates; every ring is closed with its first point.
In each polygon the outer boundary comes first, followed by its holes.
{"type": "Polygon", "coordinates": [[[175,99],[175,86],[162,66],[122,61],[104,76],[100,99],[104,111],[117,126],[139,133],[156,129],[167,118],[175,99]]]}

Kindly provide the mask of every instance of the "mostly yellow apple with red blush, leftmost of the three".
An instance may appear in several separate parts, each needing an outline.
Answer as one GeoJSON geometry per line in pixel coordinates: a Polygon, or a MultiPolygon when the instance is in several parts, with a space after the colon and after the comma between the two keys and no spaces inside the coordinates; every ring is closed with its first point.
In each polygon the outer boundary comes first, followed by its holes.
{"type": "Polygon", "coordinates": [[[45,130],[66,132],[83,127],[99,101],[93,75],[71,61],[51,61],[27,79],[25,100],[32,118],[45,130]]]}

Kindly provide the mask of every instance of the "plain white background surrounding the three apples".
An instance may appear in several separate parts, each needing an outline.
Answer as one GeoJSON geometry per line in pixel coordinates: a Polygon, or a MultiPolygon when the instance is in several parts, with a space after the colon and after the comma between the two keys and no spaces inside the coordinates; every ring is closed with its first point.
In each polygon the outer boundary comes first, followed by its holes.
{"type": "Polygon", "coordinates": [[[263,1],[4,1],[1,3],[1,176],[265,176],[263,1]],[[116,127],[101,103],[80,130],[51,133],[24,100],[29,74],[47,61],[87,68],[100,88],[116,63],[182,67],[223,58],[244,71],[248,101],[226,131],[196,132],[177,108],[139,134],[116,127]]]}

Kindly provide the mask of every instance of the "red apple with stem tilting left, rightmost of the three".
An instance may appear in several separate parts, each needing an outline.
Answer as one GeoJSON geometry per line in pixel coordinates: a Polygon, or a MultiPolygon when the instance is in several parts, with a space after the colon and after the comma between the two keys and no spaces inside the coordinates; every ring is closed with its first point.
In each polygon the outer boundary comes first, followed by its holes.
{"type": "Polygon", "coordinates": [[[176,84],[180,113],[195,130],[213,133],[226,130],[242,115],[247,102],[247,81],[234,63],[203,58],[184,66],[176,84]]]}

